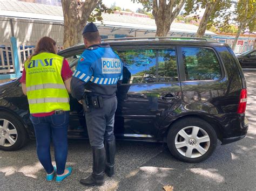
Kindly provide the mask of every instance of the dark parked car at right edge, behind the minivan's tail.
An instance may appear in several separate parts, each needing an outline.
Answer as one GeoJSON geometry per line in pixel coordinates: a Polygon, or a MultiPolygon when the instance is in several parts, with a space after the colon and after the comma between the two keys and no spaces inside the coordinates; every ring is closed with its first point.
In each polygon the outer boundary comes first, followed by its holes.
{"type": "Polygon", "coordinates": [[[237,55],[242,68],[256,68],[256,49],[237,55]]]}

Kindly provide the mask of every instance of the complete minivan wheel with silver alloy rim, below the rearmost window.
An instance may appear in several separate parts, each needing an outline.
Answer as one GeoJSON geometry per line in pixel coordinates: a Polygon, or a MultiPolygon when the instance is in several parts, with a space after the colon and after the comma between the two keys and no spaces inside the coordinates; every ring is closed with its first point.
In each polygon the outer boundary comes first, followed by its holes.
{"type": "Polygon", "coordinates": [[[171,126],[167,145],[175,158],[184,162],[201,162],[215,150],[217,135],[204,120],[184,118],[171,126]]]}

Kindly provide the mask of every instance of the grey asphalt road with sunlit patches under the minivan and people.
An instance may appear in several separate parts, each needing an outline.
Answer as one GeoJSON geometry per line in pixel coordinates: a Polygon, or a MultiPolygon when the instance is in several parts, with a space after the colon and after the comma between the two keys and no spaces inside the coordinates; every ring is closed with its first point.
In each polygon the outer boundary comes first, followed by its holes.
{"type": "Polygon", "coordinates": [[[248,85],[247,136],[221,146],[200,164],[187,164],[172,157],[166,145],[117,143],[116,175],[102,187],[84,187],[79,179],[90,174],[88,142],[70,142],[68,166],[72,175],[62,183],[46,182],[36,155],[36,143],[15,152],[0,151],[0,190],[256,190],[256,71],[244,71],[248,85]]]}

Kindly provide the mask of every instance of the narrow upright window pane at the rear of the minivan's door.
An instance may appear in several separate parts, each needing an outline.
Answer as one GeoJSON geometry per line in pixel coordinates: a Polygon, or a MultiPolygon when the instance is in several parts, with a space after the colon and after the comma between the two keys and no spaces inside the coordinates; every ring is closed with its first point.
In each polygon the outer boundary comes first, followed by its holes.
{"type": "Polygon", "coordinates": [[[176,51],[172,49],[158,50],[158,82],[178,81],[176,51]]]}

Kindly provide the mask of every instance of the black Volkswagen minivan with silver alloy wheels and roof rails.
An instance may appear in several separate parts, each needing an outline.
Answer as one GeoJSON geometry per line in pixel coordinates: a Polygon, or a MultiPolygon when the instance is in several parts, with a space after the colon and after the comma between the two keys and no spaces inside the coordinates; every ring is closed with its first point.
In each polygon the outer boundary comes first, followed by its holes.
{"type": "MultiPolygon", "coordinates": [[[[244,74],[227,44],[204,38],[106,39],[124,63],[118,87],[117,139],[167,143],[174,157],[200,162],[222,144],[245,137],[244,74]]],[[[72,70],[84,45],[64,49],[72,70]]],[[[0,86],[0,148],[34,138],[19,79],[0,86]]],[[[69,138],[87,138],[83,108],[70,95],[69,138]]]]}

